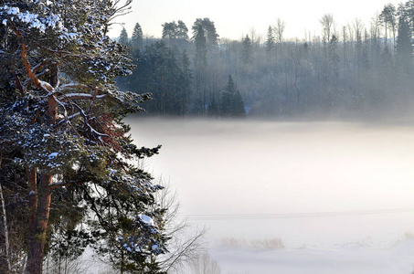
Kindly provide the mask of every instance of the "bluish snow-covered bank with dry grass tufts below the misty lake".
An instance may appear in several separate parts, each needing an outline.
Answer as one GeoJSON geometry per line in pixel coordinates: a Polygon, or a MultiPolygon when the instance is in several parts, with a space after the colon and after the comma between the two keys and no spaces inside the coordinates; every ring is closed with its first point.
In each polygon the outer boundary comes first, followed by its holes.
{"type": "Polygon", "coordinates": [[[412,274],[414,240],[380,247],[211,248],[221,274],[412,274]]]}

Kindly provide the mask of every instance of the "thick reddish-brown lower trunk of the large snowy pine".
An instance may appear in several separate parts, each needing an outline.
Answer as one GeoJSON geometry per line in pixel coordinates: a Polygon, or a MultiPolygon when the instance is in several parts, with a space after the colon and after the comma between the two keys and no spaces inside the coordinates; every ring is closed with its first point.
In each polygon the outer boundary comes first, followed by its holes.
{"type": "Polygon", "coordinates": [[[53,176],[43,174],[37,189],[37,210],[32,236],[28,244],[26,274],[41,274],[43,257],[45,254],[46,232],[50,211],[51,191],[48,184],[52,183],[53,176]]]}

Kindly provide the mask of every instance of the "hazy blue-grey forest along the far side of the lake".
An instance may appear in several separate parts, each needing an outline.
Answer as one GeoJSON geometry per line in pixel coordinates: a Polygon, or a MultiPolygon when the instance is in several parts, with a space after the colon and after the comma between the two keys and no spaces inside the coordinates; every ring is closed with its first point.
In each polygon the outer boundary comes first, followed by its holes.
{"type": "Polygon", "coordinates": [[[219,38],[212,20],[197,18],[191,35],[178,20],[163,24],[155,39],[143,37],[137,23],[131,39],[122,30],[120,42],[138,66],[117,85],[152,90],[148,112],[155,115],[228,116],[229,77],[249,116],[409,111],[414,1],[385,5],[367,24],[356,18],[337,26],[326,14],[321,34],[304,39],[286,40],[285,26],[278,19],[266,37],[252,29],[230,40],[219,38]]]}

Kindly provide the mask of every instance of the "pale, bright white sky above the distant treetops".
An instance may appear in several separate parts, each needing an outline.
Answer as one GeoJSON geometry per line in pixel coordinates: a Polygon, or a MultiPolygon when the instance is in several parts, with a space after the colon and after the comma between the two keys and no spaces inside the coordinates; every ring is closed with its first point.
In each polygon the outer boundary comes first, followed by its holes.
{"type": "MultiPolygon", "coordinates": [[[[405,3],[407,1],[403,1],[405,3]]],[[[219,37],[239,39],[254,28],[257,34],[266,36],[270,25],[277,18],[285,22],[285,38],[304,38],[305,32],[321,34],[319,19],[324,14],[332,14],[336,28],[356,18],[369,27],[369,21],[384,5],[398,6],[400,0],[287,0],[287,1],[236,1],[236,0],[133,0],[132,13],[117,18],[123,22],[131,37],[133,26],[140,23],[144,35],[161,37],[165,22],[182,20],[186,23],[191,37],[191,26],[196,18],[208,17],[215,23],[219,37]],[[243,4],[244,3],[244,4],[243,4]]],[[[122,26],[113,26],[110,36],[118,37],[122,26]]]]}

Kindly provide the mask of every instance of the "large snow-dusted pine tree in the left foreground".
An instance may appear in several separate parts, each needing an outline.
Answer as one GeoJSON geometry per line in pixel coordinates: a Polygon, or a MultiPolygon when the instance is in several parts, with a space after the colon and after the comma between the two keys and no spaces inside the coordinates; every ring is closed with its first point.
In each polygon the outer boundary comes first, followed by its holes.
{"type": "Polygon", "coordinates": [[[88,205],[85,218],[101,232],[93,235],[116,236],[137,263],[166,251],[157,227],[164,211],[154,210],[161,187],[129,161],[159,147],[137,148],[122,123],[143,111],[150,94],[122,92],[112,82],[133,69],[107,37],[111,19],[130,3],[0,0],[0,153],[4,165],[27,171],[27,184],[16,188],[27,196],[26,273],[42,273],[56,191],[77,195],[72,206],[88,205]]]}

